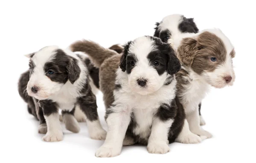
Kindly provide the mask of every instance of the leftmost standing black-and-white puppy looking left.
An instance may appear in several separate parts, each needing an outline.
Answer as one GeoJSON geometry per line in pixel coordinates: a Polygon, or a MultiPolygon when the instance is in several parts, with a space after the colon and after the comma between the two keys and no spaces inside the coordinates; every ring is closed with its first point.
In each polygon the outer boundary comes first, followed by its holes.
{"type": "Polygon", "coordinates": [[[29,110],[34,105],[35,110],[39,110],[39,131],[47,126],[43,140],[63,139],[58,109],[62,110],[66,128],[79,132],[79,124],[74,117],[75,108],[86,115],[90,137],[105,139],[106,132],[99,122],[96,97],[88,83],[88,70],[81,58],[58,46],[47,46],[28,56],[29,75],[25,72],[20,78],[19,91],[29,110]],[[21,93],[22,90],[26,91],[21,93]]]}

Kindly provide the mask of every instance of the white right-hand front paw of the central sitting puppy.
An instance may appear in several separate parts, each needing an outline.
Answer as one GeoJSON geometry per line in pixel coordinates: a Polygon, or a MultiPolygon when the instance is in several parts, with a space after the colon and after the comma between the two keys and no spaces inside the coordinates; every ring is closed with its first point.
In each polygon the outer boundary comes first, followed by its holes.
{"type": "Polygon", "coordinates": [[[149,153],[165,154],[170,151],[168,144],[164,141],[148,143],[147,150],[149,153]]]}

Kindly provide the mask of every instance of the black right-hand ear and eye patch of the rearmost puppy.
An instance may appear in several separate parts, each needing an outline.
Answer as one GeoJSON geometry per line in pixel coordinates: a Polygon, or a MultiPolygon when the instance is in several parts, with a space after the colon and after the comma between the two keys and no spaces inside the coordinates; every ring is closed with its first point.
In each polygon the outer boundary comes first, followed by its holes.
{"type": "Polygon", "coordinates": [[[194,18],[183,17],[183,21],[179,24],[178,28],[182,33],[198,33],[199,31],[194,18]]]}

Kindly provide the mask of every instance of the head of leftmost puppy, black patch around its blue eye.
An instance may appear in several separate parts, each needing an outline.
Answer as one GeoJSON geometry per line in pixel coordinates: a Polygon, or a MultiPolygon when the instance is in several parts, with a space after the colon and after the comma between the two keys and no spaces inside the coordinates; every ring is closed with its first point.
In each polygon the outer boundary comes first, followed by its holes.
{"type": "Polygon", "coordinates": [[[73,84],[79,78],[81,70],[77,59],[58,46],[47,46],[27,56],[30,57],[27,92],[38,100],[48,99],[60,91],[68,80],[73,84]]]}

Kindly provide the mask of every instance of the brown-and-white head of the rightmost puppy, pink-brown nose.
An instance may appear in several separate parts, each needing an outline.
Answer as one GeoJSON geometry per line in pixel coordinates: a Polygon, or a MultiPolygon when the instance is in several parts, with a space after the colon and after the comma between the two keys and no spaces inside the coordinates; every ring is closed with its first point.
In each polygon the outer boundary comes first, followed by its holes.
{"type": "Polygon", "coordinates": [[[232,58],[234,47],[219,29],[209,29],[196,37],[184,38],[177,49],[178,58],[216,88],[231,86],[235,80],[232,58]]]}

